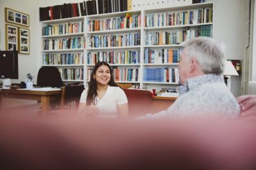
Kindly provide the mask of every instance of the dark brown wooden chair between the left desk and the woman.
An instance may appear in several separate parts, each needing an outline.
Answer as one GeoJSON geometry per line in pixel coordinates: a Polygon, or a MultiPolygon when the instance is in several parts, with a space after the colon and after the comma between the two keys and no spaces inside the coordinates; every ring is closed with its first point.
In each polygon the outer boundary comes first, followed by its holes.
{"type": "Polygon", "coordinates": [[[76,109],[79,105],[81,93],[84,90],[84,85],[71,84],[63,87],[61,95],[61,109],[76,109]]]}

